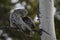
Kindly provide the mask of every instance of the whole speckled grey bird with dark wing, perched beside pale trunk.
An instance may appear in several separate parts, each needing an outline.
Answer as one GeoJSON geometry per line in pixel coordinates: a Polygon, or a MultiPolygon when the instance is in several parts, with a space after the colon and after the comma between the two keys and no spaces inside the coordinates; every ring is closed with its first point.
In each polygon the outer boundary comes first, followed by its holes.
{"type": "Polygon", "coordinates": [[[22,31],[28,30],[32,32],[31,28],[34,28],[34,23],[27,16],[27,11],[25,9],[17,9],[10,14],[10,26],[19,28],[22,31]]]}

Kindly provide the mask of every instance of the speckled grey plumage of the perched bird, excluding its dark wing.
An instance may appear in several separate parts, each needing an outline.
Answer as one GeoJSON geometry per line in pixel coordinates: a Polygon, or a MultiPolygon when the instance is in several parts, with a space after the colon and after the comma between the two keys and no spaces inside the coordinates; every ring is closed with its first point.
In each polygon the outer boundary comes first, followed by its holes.
{"type": "Polygon", "coordinates": [[[22,19],[26,16],[27,16],[26,10],[24,9],[14,10],[14,12],[10,14],[10,26],[19,28],[20,30],[24,31],[28,29],[29,31],[32,32],[31,27],[29,27],[29,25],[27,25],[27,23],[25,23],[22,19]]]}

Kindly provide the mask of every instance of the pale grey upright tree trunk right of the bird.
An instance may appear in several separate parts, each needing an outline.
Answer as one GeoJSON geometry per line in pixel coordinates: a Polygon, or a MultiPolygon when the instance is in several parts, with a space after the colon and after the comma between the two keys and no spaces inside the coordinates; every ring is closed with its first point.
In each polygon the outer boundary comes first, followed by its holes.
{"type": "Polygon", "coordinates": [[[47,33],[43,32],[41,35],[41,40],[56,40],[53,7],[53,0],[39,0],[39,27],[50,34],[48,35],[47,33]]]}

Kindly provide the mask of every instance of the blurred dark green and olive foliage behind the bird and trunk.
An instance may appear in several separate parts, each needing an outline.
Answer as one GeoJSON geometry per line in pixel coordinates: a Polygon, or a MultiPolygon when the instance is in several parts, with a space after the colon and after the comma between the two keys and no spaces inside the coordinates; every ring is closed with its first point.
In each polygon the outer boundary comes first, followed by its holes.
{"type": "MultiPolygon", "coordinates": [[[[29,5],[28,15],[34,20],[36,15],[38,14],[39,10],[39,2],[38,0],[19,0],[19,2],[25,1],[27,5],[29,5]]],[[[9,26],[9,15],[10,11],[13,8],[11,0],[0,0],[0,26],[9,26]]],[[[60,40],[60,0],[55,0],[55,29],[56,29],[56,36],[57,40],[60,40]]],[[[36,23],[36,28],[38,29],[38,22],[36,23]]],[[[35,33],[33,38],[26,37],[24,33],[17,32],[16,30],[11,29],[4,29],[3,30],[4,36],[8,35],[9,38],[13,40],[40,40],[39,34],[35,33]]]]}

